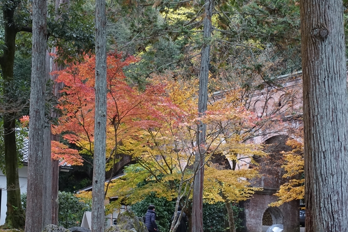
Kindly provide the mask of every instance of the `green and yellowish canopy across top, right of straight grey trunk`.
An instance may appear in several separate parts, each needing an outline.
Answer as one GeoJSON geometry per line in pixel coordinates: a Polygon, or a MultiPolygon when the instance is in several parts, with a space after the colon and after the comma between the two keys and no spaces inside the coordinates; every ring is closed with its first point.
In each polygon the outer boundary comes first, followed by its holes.
{"type": "Polygon", "coordinates": [[[129,67],[133,79],[149,77],[161,69],[185,77],[198,75],[194,68],[197,60],[192,57],[204,43],[211,44],[209,70],[213,78],[219,77],[220,70],[230,69],[227,73],[242,71],[271,81],[272,76],[301,68],[297,0],[217,1],[213,35],[207,41],[202,40],[204,2],[136,0],[119,4],[113,5],[110,15],[116,22],[110,41],[118,50],[142,58],[129,67]],[[164,48],[163,41],[167,43],[164,48]]]}

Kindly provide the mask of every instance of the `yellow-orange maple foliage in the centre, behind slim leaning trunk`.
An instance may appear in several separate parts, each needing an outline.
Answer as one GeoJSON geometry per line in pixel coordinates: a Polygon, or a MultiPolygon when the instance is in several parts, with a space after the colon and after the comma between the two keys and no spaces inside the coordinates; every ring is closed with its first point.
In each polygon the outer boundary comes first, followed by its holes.
{"type": "MultiPolygon", "coordinates": [[[[189,199],[194,172],[194,152],[197,123],[207,124],[205,161],[214,155],[224,155],[236,160],[236,154],[250,156],[265,155],[260,145],[245,144],[249,136],[247,128],[252,128],[257,117],[246,111],[237,99],[237,90],[225,93],[224,98],[210,104],[206,115],[198,117],[198,81],[178,80],[155,76],[154,83],[165,88],[157,104],[151,105],[154,113],[148,120],[151,126],[141,126],[134,130],[132,138],[123,146],[132,147],[132,156],[137,164],[125,170],[125,176],[110,184],[107,197],[118,196],[118,201],[107,208],[123,204],[133,204],[143,200],[150,193],[168,200],[182,196],[189,199]]],[[[249,198],[256,188],[250,187],[248,180],[257,172],[249,170],[221,170],[209,163],[205,166],[204,198],[208,202],[241,201],[249,198]]]]}

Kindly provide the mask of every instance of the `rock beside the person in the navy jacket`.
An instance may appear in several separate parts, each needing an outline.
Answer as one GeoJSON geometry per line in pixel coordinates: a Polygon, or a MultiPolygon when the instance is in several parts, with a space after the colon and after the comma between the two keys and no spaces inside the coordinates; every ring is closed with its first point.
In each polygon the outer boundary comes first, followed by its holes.
{"type": "Polygon", "coordinates": [[[130,211],[126,210],[117,217],[117,225],[105,229],[105,232],[148,232],[141,219],[130,211]]]}

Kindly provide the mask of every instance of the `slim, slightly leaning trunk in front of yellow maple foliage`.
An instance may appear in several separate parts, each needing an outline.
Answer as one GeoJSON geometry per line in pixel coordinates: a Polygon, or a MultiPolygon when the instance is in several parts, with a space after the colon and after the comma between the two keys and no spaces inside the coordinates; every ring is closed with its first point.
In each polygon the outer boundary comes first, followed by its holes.
{"type": "MultiPolygon", "coordinates": [[[[210,64],[212,0],[205,0],[203,48],[201,52],[200,85],[198,96],[199,116],[204,116],[208,101],[208,76],[210,64]]],[[[203,179],[205,156],[206,124],[200,122],[197,126],[198,150],[195,155],[195,165],[199,167],[194,177],[192,197],[192,232],[203,232],[203,179]]]]}

